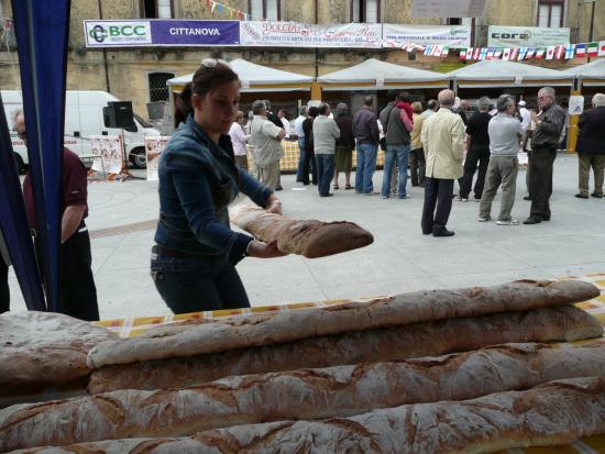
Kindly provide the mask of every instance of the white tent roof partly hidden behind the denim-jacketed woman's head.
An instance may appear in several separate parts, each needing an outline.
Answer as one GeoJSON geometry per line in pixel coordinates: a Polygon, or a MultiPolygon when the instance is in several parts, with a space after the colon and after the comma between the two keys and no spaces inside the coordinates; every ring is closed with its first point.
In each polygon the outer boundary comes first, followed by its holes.
{"type": "MultiPolygon", "coordinates": [[[[229,64],[231,65],[231,68],[233,68],[233,70],[238,73],[238,76],[240,76],[240,79],[242,80],[244,87],[246,85],[252,87],[254,85],[310,84],[314,80],[314,78],[309,76],[256,65],[242,58],[235,58],[229,64]]],[[[194,74],[188,74],[186,76],[168,79],[166,81],[166,85],[185,85],[190,82],[193,78],[194,74]]]]}

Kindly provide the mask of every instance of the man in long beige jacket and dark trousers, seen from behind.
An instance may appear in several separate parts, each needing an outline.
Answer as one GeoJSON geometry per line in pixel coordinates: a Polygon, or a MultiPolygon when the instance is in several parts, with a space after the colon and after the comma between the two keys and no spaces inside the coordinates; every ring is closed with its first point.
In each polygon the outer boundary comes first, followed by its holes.
{"type": "Polygon", "coordinates": [[[425,120],[420,134],[427,159],[421,222],[425,235],[454,234],[446,225],[452,209],[454,180],[463,174],[464,159],[464,122],[452,112],[454,98],[452,90],[439,92],[440,109],[425,120]]]}

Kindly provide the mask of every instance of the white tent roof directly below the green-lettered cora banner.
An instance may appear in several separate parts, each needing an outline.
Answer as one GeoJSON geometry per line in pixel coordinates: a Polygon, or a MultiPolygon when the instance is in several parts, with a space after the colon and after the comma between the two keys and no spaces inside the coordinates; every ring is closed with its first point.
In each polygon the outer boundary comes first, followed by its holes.
{"type": "Polygon", "coordinates": [[[490,59],[446,75],[459,88],[571,86],[573,76],[522,63],[490,59]]]}

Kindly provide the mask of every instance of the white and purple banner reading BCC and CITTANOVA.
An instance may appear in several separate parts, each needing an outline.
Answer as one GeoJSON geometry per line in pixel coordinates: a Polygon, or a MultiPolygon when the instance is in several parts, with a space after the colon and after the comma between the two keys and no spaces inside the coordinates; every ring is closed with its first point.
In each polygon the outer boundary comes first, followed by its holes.
{"type": "Polygon", "coordinates": [[[239,21],[84,21],[87,47],[229,46],[240,43],[239,21]]]}

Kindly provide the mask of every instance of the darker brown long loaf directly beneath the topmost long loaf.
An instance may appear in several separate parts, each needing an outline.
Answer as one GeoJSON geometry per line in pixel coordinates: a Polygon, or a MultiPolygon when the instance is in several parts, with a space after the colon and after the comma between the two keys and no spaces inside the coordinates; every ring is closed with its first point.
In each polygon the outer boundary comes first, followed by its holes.
{"type": "Polygon", "coordinates": [[[594,317],[573,306],[562,306],[354,331],[209,355],[106,366],[91,374],[88,391],[185,388],[230,375],[386,362],[508,342],[578,341],[602,335],[603,328],[594,317]]]}

